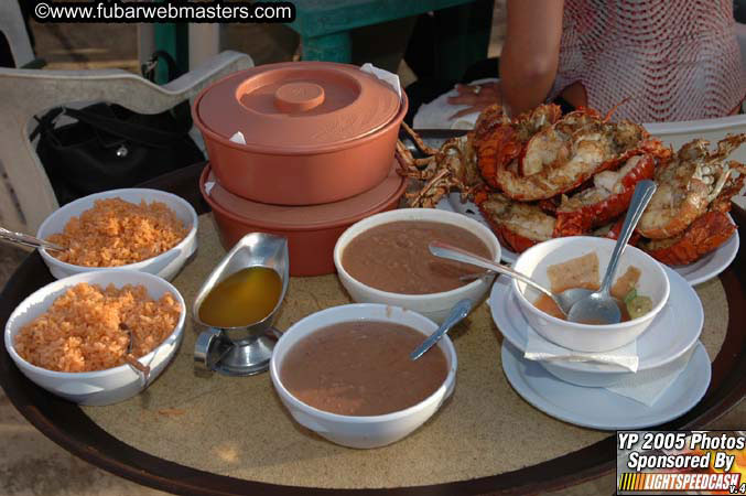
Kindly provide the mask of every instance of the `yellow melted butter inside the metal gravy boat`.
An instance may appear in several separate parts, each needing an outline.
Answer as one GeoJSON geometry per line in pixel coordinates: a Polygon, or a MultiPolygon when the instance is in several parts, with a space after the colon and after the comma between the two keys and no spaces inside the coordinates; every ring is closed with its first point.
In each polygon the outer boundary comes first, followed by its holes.
{"type": "Polygon", "coordinates": [[[215,327],[250,325],[267,317],[280,299],[282,280],[273,269],[249,267],[228,276],[199,305],[199,320],[215,327]]]}

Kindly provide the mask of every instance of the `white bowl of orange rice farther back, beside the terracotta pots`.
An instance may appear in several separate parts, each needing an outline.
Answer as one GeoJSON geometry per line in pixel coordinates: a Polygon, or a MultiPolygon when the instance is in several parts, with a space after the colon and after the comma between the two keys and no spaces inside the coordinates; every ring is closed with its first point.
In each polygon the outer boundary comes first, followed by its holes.
{"type": "Polygon", "coordinates": [[[36,237],[67,248],[40,249],[57,279],[101,269],[132,269],[171,280],[197,249],[197,214],[164,191],[111,190],[52,213],[36,237]]]}

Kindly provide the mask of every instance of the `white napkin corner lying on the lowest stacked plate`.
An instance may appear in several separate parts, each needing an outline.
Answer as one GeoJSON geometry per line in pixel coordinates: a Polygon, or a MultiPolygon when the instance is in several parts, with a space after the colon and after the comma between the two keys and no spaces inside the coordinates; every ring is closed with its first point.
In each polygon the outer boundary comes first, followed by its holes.
{"type": "Polygon", "coordinates": [[[650,370],[642,370],[633,377],[609,386],[608,389],[617,395],[626,396],[635,401],[651,407],[660,399],[679,375],[686,368],[696,344],[675,360],[650,370]]]}

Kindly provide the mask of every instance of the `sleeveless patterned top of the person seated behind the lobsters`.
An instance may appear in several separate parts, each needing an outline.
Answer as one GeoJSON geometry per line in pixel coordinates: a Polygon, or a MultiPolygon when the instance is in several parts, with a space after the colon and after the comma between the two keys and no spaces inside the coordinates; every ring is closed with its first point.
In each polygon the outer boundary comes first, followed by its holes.
{"type": "Polygon", "coordinates": [[[728,115],[746,95],[733,0],[565,0],[551,98],[575,82],[637,122],[728,115]]]}

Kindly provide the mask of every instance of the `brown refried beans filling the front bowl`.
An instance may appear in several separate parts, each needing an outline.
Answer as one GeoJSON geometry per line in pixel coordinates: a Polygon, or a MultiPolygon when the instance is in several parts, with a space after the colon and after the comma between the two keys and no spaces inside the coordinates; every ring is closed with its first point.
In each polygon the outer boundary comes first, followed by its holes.
{"type": "Polygon", "coordinates": [[[448,368],[433,346],[418,360],[409,354],[419,331],[390,322],[334,324],[300,339],[282,363],[280,378],[299,400],[343,416],[380,416],[403,410],[441,387],[448,368]]]}

